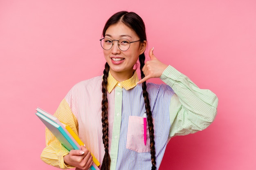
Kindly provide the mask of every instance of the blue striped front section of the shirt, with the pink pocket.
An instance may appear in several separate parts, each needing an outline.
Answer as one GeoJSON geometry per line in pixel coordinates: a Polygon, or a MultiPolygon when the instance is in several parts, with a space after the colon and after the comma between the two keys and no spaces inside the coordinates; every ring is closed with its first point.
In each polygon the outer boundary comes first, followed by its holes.
{"type": "MultiPolygon", "coordinates": [[[[171,127],[169,120],[169,104],[173,91],[166,85],[155,85],[151,83],[147,85],[147,89],[150,94],[150,105],[155,126],[155,148],[158,168],[168,143],[169,130],[171,127]]],[[[117,159],[117,166],[116,168],[111,168],[115,170],[150,170],[152,163],[149,132],[147,134],[148,140],[146,146],[143,140],[143,114],[146,110],[141,85],[128,91],[123,89],[121,107],[122,120],[120,126],[119,150],[118,157],[114,158],[117,159]],[[128,128],[129,125],[131,125],[130,128],[132,128],[132,130],[128,128]],[[128,132],[130,132],[130,134],[128,134],[128,132]],[[128,138],[132,138],[129,146],[127,145],[128,138]]]]}

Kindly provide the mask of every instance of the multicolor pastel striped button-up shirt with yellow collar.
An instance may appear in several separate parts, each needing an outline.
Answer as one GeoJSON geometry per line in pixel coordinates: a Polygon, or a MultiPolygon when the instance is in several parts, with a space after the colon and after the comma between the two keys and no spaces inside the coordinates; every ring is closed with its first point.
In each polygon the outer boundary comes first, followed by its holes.
{"type": "MultiPolygon", "coordinates": [[[[156,166],[160,166],[171,137],[187,135],[207,128],[216,116],[218,98],[209,90],[198,88],[191,80],[168,66],[160,77],[166,84],[147,83],[153,115],[156,166]]],[[[150,170],[149,132],[144,145],[144,97],[138,76],[117,82],[108,76],[108,122],[110,170],[150,170]]],[[[102,76],[76,84],[54,114],[68,124],[102,163],[101,92],[102,76]]],[[[69,151],[46,129],[46,148],[41,159],[52,166],[74,168],[64,163],[69,151]]],[[[78,169],[78,168],[76,168],[78,169]]]]}

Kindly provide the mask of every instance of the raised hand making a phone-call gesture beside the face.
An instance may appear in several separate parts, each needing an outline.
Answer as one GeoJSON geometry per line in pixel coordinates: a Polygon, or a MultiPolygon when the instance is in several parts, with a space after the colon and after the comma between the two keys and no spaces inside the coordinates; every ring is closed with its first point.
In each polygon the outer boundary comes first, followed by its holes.
{"type": "Polygon", "coordinates": [[[150,78],[159,78],[164,70],[168,67],[168,65],[163,64],[155,57],[153,50],[154,47],[149,51],[150,61],[147,61],[142,68],[145,77],[139,80],[137,84],[143,83],[150,78]]]}

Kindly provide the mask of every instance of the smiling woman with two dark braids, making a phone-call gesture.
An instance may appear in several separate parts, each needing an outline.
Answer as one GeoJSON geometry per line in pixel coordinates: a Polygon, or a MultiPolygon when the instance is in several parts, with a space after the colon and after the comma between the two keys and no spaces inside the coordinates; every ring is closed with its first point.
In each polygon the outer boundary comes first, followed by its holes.
{"type": "Polygon", "coordinates": [[[63,169],[87,170],[92,152],[101,162],[101,170],[158,169],[171,137],[195,133],[211,124],[218,98],[157,60],[153,49],[151,60],[144,64],[145,25],[136,13],[112,15],[100,41],[106,59],[103,77],[76,84],[55,113],[79,134],[86,148],[69,152],[47,130],[41,159],[63,169]],[[141,80],[133,69],[137,60],[141,80]],[[166,84],[146,83],[152,77],[166,84]]]}

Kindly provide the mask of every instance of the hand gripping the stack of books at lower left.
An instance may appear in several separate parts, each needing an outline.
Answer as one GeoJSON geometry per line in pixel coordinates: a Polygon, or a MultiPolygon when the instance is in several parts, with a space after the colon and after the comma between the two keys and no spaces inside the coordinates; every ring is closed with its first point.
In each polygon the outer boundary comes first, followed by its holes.
{"type": "Polygon", "coordinates": [[[81,146],[81,150],[70,150],[70,153],[64,156],[64,161],[81,170],[88,170],[93,163],[91,152],[85,146],[81,146]]]}

